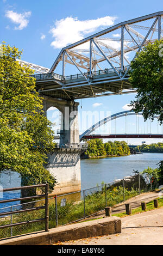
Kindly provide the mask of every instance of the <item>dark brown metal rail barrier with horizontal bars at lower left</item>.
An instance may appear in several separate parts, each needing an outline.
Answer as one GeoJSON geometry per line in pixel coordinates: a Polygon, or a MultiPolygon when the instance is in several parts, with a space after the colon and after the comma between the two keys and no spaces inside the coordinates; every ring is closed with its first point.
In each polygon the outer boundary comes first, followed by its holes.
{"type": "MultiPolygon", "coordinates": [[[[14,206],[10,206],[11,210],[10,211],[4,211],[0,212],[0,217],[2,216],[11,216],[11,223],[10,224],[5,224],[5,225],[0,225],[0,229],[4,228],[9,228],[11,227],[11,236],[12,236],[12,227],[16,227],[18,225],[25,225],[29,223],[35,223],[35,222],[42,222],[45,221],[45,231],[48,231],[48,184],[40,184],[40,185],[33,185],[33,186],[24,186],[24,187],[12,187],[12,188],[5,188],[3,192],[8,192],[8,191],[16,191],[16,190],[31,190],[33,188],[38,188],[38,187],[45,187],[45,194],[39,194],[35,196],[30,196],[30,197],[20,197],[20,198],[12,198],[12,199],[5,199],[5,200],[0,200],[1,203],[10,203],[10,202],[16,202],[16,201],[22,201],[22,200],[31,200],[31,199],[37,199],[37,198],[42,198],[45,197],[45,205],[44,206],[34,206],[30,207],[28,209],[18,209],[16,211],[13,211],[14,206]],[[17,223],[12,223],[12,215],[13,214],[23,214],[24,212],[28,211],[37,211],[45,209],[45,217],[44,218],[39,218],[37,220],[28,220],[28,221],[23,221],[23,222],[17,222],[17,223]]],[[[31,202],[30,202],[31,203],[31,202]]],[[[3,208],[7,209],[7,208],[3,208]]],[[[2,209],[0,209],[2,210],[2,209]]]]}

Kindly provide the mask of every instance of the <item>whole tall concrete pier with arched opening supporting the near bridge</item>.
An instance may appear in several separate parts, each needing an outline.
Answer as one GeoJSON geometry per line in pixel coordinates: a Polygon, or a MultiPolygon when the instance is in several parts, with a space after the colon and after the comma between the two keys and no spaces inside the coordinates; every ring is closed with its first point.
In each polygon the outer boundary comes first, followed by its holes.
{"type": "Polygon", "coordinates": [[[52,194],[64,194],[81,189],[80,154],[82,150],[78,147],[78,105],[78,102],[43,96],[45,113],[50,107],[56,107],[61,112],[59,148],[48,155],[47,169],[58,182],[52,194]]]}

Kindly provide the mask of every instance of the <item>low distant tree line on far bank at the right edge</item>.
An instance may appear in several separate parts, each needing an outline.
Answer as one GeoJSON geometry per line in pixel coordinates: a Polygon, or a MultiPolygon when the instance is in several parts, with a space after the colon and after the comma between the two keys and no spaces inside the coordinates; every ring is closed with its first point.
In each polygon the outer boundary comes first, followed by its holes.
{"type": "Polygon", "coordinates": [[[136,152],[144,153],[163,153],[163,143],[152,143],[151,145],[142,144],[135,148],[136,152]]]}

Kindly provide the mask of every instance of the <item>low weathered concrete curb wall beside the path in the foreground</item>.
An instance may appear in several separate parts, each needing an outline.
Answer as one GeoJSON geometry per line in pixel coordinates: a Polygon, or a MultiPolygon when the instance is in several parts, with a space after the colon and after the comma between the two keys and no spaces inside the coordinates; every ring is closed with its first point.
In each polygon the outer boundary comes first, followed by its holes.
{"type": "Polygon", "coordinates": [[[63,227],[50,229],[49,232],[28,234],[0,241],[0,245],[53,245],[58,241],[83,239],[91,236],[121,233],[121,219],[106,217],[63,227]]]}

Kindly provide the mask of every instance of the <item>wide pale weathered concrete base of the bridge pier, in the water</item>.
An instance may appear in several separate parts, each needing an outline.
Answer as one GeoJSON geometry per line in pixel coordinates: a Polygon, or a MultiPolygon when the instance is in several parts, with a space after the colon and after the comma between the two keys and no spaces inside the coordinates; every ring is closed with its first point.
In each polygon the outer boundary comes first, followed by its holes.
{"type": "Polygon", "coordinates": [[[57,179],[52,194],[65,194],[81,190],[80,154],[53,153],[48,156],[49,172],[57,179]]]}

